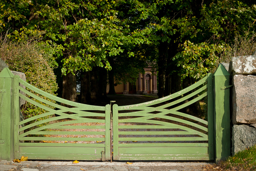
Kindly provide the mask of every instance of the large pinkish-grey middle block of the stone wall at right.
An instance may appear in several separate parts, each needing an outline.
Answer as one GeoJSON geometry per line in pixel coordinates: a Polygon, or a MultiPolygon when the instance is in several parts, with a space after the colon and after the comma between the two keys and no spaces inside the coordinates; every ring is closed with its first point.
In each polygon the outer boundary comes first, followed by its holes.
{"type": "Polygon", "coordinates": [[[232,84],[233,124],[256,123],[256,76],[234,75],[232,84]]]}

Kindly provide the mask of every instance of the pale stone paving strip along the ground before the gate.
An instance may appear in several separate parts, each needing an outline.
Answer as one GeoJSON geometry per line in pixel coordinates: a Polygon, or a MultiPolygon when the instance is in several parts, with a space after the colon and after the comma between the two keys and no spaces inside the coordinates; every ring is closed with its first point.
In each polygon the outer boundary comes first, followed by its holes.
{"type": "Polygon", "coordinates": [[[0,171],[202,171],[206,162],[0,161],[0,171]]]}

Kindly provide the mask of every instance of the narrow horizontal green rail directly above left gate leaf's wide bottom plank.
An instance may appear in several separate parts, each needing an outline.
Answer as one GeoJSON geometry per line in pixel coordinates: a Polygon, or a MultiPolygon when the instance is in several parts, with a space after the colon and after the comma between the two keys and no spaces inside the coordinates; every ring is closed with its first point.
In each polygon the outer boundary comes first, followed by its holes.
{"type": "Polygon", "coordinates": [[[36,146],[38,148],[44,147],[105,147],[105,144],[100,143],[19,143],[19,146],[36,146]]]}

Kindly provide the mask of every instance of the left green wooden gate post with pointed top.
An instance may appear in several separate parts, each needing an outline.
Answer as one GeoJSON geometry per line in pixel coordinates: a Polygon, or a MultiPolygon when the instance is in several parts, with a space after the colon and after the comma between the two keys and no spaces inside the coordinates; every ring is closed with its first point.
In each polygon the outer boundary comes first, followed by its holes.
{"type": "Polygon", "coordinates": [[[8,68],[0,73],[0,160],[13,160],[13,78],[8,68]]]}

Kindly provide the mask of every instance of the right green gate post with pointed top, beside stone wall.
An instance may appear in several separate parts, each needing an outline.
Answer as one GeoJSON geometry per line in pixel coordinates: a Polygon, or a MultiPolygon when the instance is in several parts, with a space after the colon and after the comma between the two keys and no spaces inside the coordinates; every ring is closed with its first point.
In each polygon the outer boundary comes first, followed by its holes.
{"type": "Polygon", "coordinates": [[[213,75],[215,162],[230,156],[229,73],[219,65],[213,75]]]}

